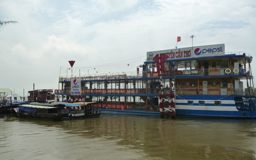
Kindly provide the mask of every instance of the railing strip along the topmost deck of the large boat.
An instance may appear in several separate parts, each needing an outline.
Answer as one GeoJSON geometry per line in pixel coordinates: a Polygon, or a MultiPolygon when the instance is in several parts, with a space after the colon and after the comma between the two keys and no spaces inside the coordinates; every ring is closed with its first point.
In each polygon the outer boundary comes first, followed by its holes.
{"type": "MultiPolygon", "coordinates": [[[[239,69],[238,72],[235,68],[230,68],[231,73],[226,73],[226,68],[216,68],[216,69],[209,69],[208,72],[204,72],[203,69],[182,69],[176,71],[165,71],[162,72],[162,78],[189,78],[189,77],[230,77],[230,76],[239,76],[240,78],[251,77],[249,74],[249,69],[239,69]],[[207,74],[207,75],[206,75],[207,74]]],[[[137,72],[117,72],[111,74],[94,74],[94,75],[74,75],[71,76],[60,76],[59,82],[70,82],[71,78],[80,78],[81,81],[105,81],[105,80],[145,80],[145,79],[160,79],[160,74],[158,72],[146,72],[140,71],[139,74],[137,72]]]]}

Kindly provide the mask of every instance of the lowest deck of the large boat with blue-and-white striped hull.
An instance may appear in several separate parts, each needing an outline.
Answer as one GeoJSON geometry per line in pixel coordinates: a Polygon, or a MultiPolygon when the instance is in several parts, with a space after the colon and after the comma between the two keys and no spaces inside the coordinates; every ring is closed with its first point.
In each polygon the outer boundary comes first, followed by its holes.
{"type": "MultiPolygon", "coordinates": [[[[90,96],[93,108],[101,113],[159,116],[159,97],[90,96]],[[135,100],[135,101],[132,101],[135,100]],[[123,101],[124,100],[124,101],[123,101]]],[[[76,99],[77,100],[77,99],[76,99]]],[[[84,99],[81,99],[84,100],[84,99]]],[[[213,117],[256,117],[256,96],[242,95],[175,95],[177,115],[213,117]]]]}

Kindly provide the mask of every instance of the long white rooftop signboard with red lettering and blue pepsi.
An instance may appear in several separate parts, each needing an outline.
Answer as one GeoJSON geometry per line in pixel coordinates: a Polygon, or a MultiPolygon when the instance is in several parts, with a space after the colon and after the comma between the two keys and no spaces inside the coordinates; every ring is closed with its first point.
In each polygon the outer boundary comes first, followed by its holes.
{"type": "Polygon", "coordinates": [[[165,53],[168,56],[167,60],[206,57],[206,56],[223,56],[225,55],[224,44],[214,44],[205,46],[194,46],[187,48],[176,48],[161,51],[147,52],[147,61],[153,60],[156,54],[165,53]]]}

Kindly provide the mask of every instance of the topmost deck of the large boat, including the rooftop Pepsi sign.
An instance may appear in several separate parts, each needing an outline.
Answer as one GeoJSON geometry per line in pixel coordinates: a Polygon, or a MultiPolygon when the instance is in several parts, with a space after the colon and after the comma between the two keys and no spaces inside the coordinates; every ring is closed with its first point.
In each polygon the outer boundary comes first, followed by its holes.
{"type": "MultiPolygon", "coordinates": [[[[245,52],[225,52],[224,44],[195,46],[147,52],[143,70],[135,72],[116,72],[93,75],[74,75],[81,81],[133,80],[191,77],[230,77],[246,79],[250,74],[252,56],[245,52]],[[155,57],[164,54],[161,75],[155,57]]],[[[70,81],[71,76],[60,76],[59,82],[70,81]]]]}

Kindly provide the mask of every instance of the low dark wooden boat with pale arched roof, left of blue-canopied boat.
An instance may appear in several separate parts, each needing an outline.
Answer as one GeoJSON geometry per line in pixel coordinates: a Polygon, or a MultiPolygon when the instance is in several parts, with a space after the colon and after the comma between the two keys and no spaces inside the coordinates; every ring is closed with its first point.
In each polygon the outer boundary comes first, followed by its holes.
{"type": "Polygon", "coordinates": [[[63,120],[63,117],[67,117],[68,113],[59,112],[59,108],[61,108],[60,104],[42,104],[38,102],[33,102],[30,104],[19,105],[18,108],[14,109],[21,117],[63,120]]]}

